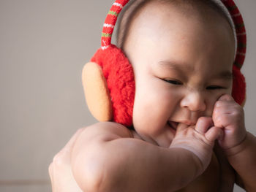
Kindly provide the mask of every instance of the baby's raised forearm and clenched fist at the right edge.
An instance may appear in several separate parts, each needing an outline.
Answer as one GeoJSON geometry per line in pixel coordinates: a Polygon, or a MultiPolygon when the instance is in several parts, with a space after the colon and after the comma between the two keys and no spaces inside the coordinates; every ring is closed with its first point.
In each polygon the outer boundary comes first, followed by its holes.
{"type": "Polygon", "coordinates": [[[243,108],[224,95],[215,104],[213,120],[224,131],[219,146],[238,174],[237,183],[246,191],[256,191],[256,138],[245,129],[243,108]]]}

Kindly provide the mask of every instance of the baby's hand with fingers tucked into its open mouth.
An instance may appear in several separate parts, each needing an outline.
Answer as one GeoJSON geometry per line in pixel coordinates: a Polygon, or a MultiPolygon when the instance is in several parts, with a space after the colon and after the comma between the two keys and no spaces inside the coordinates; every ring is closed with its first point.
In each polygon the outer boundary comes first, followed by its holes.
{"type": "Polygon", "coordinates": [[[222,134],[222,129],[214,127],[210,117],[201,117],[195,126],[179,123],[170,148],[181,147],[194,153],[200,160],[200,171],[203,172],[211,161],[214,142],[222,134]]]}

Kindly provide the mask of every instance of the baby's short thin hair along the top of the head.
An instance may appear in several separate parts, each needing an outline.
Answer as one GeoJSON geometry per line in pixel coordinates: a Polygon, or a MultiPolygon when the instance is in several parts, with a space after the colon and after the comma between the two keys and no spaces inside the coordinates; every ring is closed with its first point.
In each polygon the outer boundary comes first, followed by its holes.
{"type": "Polygon", "coordinates": [[[145,8],[148,4],[152,2],[157,2],[159,4],[171,4],[184,15],[189,14],[189,12],[187,12],[187,9],[192,9],[195,12],[200,12],[201,18],[206,18],[209,16],[214,17],[214,15],[210,15],[208,13],[208,9],[211,9],[217,15],[227,20],[233,30],[234,39],[236,41],[236,30],[234,28],[233,21],[230,18],[230,14],[223,6],[223,4],[217,0],[132,0],[129,1],[126,7],[124,7],[118,20],[116,39],[117,46],[120,47],[122,50],[124,50],[124,44],[127,40],[127,35],[129,34],[132,21],[138,17],[143,8],[145,8]]]}

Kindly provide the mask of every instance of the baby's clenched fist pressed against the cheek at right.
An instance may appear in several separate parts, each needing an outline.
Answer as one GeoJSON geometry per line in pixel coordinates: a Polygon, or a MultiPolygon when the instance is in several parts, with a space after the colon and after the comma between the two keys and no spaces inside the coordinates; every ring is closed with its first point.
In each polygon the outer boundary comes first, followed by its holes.
{"type": "Polygon", "coordinates": [[[224,135],[219,139],[223,150],[239,145],[246,137],[244,110],[230,95],[223,95],[214,105],[214,126],[222,128],[224,135]]]}

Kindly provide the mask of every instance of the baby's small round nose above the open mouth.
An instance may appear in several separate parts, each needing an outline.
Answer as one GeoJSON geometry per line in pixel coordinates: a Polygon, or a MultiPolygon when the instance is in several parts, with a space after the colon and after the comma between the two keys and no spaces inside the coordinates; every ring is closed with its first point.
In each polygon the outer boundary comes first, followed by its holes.
{"type": "Polygon", "coordinates": [[[206,110],[206,99],[201,91],[190,91],[181,100],[181,107],[193,112],[203,112],[206,110]]]}

